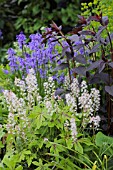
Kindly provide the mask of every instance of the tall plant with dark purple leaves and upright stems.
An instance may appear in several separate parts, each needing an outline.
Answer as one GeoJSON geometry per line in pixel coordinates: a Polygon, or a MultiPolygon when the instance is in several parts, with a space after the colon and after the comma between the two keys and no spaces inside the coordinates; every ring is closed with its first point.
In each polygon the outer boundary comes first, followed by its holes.
{"type": "MultiPolygon", "coordinates": [[[[78,25],[69,32],[71,36],[64,35],[61,28],[53,22],[51,25],[52,31],[46,33],[45,39],[55,37],[61,46],[62,53],[60,59],[63,62],[56,65],[54,70],[67,71],[70,84],[73,77],[76,78],[77,75],[81,78],[85,76],[89,84],[97,84],[103,96],[100,113],[104,115],[104,120],[106,118],[108,120],[108,127],[106,128],[106,132],[108,133],[113,126],[111,122],[113,103],[110,99],[110,95],[113,96],[113,35],[108,29],[109,19],[103,13],[94,14],[88,18],[78,15],[78,18],[78,25]],[[93,26],[92,22],[96,22],[96,26],[93,26]],[[59,39],[57,37],[58,35],[59,39]],[[62,41],[60,41],[61,39],[65,40],[67,46],[63,46],[62,41]],[[77,43],[78,41],[80,43],[77,43]],[[82,53],[79,52],[81,48],[82,53]],[[103,89],[105,89],[105,92],[103,89]],[[107,100],[108,98],[109,100],[107,100]],[[107,117],[105,112],[108,113],[107,117]]],[[[103,123],[106,124],[106,121],[103,123]]],[[[106,125],[103,125],[104,127],[106,125]]],[[[112,130],[110,133],[112,133],[112,130]]]]}

